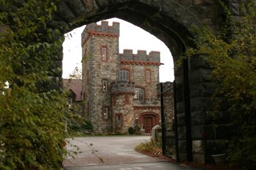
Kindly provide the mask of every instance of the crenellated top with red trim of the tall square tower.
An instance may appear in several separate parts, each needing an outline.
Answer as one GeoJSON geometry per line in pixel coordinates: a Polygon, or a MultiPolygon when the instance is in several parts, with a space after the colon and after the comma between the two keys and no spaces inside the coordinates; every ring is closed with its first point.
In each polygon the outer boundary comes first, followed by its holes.
{"type": "Polygon", "coordinates": [[[119,37],[119,25],[119,22],[113,22],[112,25],[109,25],[106,20],[102,20],[101,25],[97,23],[88,24],[82,32],[82,43],[90,34],[119,37]]]}

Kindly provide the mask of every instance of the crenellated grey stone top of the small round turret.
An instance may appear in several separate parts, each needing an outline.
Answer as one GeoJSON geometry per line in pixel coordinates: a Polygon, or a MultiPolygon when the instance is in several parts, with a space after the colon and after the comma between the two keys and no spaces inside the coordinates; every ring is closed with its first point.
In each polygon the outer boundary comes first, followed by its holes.
{"type": "Polygon", "coordinates": [[[115,81],[111,83],[111,94],[135,94],[135,83],[131,81],[115,81]]]}

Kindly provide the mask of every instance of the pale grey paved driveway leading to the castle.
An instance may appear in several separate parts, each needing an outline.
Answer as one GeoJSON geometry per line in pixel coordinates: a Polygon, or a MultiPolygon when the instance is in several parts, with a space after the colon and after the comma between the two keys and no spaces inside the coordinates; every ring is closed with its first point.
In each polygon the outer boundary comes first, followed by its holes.
{"type": "Polygon", "coordinates": [[[78,150],[80,153],[73,155],[75,159],[68,156],[63,166],[66,170],[170,169],[170,167],[171,169],[187,169],[170,161],[166,162],[166,159],[149,157],[134,150],[136,145],[147,140],[150,140],[149,136],[76,137],[68,140],[70,143],[67,149],[76,151],[74,146],[77,146],[80,148],[78,150]]]}

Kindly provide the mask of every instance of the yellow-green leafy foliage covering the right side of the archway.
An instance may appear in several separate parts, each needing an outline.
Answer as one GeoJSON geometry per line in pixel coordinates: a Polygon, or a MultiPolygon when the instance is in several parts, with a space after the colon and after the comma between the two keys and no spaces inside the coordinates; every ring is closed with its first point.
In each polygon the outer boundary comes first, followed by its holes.
{"type": "MultiPolygon", "coordinates": [[[[230,128],[235,134],[229,140],[229,161],[245,167],[256,165],[256,1],[240,4],[240,18],[234,18],[224,3],[227,22],[219,32],[209,28],[195,29],[195,48],[185,57],[205,56],[213,68],[216,83],[213,99],[216,111],[230,114],[230,128]]],[[[216,112],[218,114],[218,112],[216,112]]],[[[216,115],[215,115],[216,116],[216,115]]]]}

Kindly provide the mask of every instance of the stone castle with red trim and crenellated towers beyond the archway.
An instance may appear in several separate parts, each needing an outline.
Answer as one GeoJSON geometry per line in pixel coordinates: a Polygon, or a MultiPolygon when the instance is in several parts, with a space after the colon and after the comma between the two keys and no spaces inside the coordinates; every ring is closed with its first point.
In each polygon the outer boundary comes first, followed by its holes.
{"type": "Polygon", "coordinates": [[[119,23],[88,24],[82,32],[82,97],[96,133],[127,133],[158,125],[160,52],[124,49],[119,53],[119,23]]]}

